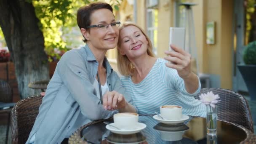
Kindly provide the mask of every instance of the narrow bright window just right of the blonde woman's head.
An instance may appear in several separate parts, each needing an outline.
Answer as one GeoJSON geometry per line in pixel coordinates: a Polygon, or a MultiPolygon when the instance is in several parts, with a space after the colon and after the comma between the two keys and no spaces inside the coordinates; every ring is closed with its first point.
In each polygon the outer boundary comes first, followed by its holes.
{"type": "Polygon", "coordinates": [[[153,52],[157,55],[158,10],[147,8],[147,35],[152,42],[153,52]]]}

